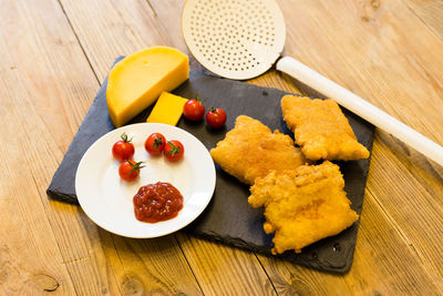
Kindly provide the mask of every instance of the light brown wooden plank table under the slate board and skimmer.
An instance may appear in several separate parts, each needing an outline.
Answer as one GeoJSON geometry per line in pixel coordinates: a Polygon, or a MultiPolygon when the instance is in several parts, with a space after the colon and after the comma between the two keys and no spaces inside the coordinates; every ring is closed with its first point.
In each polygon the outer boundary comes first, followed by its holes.
{"type": "MultiPolygon", "coordinates": [[[[285,54],[443,144],[441,0],[278,2],[285,54]]],[[[443,167],[380,130],[346,275],[183,233],[123,238],[48,198],[114,59],[156,44],[187,52],[183,3],[0,1],[0,294],[442,294],[443,167]]],[[[275,71],[250,82],[297,91],[275,71]]]]}

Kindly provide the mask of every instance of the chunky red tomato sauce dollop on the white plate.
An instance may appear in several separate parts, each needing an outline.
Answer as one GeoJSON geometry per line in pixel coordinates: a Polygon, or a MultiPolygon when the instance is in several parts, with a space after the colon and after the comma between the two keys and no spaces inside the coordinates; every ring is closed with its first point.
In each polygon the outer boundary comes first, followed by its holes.
{"type": "Polygon", "coordinates": [[[183,208],[179,191],[166,182],[140,187],[134,198],[135,217],[138,221],[156,223],[177,216],[183,208]]]}

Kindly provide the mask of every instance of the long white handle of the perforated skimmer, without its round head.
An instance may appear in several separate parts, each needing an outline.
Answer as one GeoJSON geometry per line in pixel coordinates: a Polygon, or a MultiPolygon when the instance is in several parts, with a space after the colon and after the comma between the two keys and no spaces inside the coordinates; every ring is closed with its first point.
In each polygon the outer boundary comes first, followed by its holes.
{"type": "Polygon", "coordinates": [[[347,89],[320,75],[307,65],[290,57],[285,57],[277,62],[277,70],[291,75],[306,85],[334,100],[340,105],[369,121],[377,127],[394,135],[443,166],[442,146],[392,118],[388,113],[381,111],[377,106],[368,103],[347,89]]]}

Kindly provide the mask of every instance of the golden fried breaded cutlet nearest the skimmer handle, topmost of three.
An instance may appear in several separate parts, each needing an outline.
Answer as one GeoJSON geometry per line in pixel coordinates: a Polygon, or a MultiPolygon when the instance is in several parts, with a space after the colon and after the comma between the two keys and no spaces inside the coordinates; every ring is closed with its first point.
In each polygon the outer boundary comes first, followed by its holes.
{"type": "Polygon", "coordinates": [[[357,141],[348,119],[334,101],[285,95],[281,109],[286,123],[308,160],[369,157],[369,151],[357,141]]]}

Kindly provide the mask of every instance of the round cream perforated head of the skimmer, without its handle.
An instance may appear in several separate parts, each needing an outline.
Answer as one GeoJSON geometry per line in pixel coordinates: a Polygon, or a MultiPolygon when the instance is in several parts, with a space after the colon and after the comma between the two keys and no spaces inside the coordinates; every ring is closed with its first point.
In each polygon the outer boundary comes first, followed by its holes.
{"type": "Polygon", "coordinates": [[[197,61],[229,79],[260,75],[285,45],[284,16],[272,0],[187,1],[182,28],[197,61]]]}

